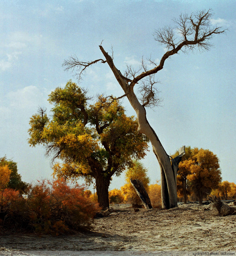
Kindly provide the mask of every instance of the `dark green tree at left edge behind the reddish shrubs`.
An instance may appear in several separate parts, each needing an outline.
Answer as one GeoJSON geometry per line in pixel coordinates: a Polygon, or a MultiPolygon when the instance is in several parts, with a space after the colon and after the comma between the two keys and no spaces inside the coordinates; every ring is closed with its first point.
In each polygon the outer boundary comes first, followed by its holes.
{"type": "Polygon", "coordinates": [[[21,194],[25,193],[29,184],[21,180],[21,175],[18,173],[17,169],[17,163],[4,156],[0,158],[0,167],[4,166],[7,166],[11,170],[9,182],[7,182],[7,188],[18,190],[21,194]]]}

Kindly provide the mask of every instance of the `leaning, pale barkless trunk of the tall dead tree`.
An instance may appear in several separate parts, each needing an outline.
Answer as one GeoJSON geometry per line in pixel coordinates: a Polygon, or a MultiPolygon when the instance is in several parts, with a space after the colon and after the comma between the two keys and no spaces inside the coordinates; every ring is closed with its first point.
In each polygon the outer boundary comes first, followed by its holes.
{"type": "Polygon", "coordinates": [[[172,170],[170,157],[164,150],[161,142],[157,137],[157,134],[146,119],[145,108],[140,104],[133,91],[133,86],[135,85],[135,83],[131,82],[131,84],[129,85],[127,80],[123,79],[119,70],[117,70],[114,66],[112,58],[108,55],[107,52],[105,52],[104,48],[101,45],[99,47],[101,52],[105,56],[109,67],[115,75],[116,80],[119,82],[122,89],[124,90],[131,106],[136,111],[139,124],[138,131],[145,134],[152,143],[153,152],[159,162],[161,170],[162,208],[169,209],[177,207],[176,173],[174,173],[174,171],[172,170]]]}

